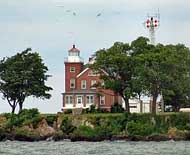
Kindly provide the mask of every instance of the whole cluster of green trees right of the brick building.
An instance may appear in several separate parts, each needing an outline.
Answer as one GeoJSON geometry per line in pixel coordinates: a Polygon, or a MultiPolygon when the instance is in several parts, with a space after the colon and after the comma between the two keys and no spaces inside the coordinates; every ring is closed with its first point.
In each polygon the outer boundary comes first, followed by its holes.
{"type": "Polygon", "coordinates": [[[190,50],[182,44],[151,45],[139,37],[131,45],[116,42],[108,49],[96,52],[91,66],[105,71],[101,74],[105,88],[112,89],[124,99],[129,110],[129,98],[142,94],[152,97],[151,112],[156,113],[158,97],[175,108],[189,104],[190,50]],[[169,103],[170,102],[170,103],[169,103]]]}

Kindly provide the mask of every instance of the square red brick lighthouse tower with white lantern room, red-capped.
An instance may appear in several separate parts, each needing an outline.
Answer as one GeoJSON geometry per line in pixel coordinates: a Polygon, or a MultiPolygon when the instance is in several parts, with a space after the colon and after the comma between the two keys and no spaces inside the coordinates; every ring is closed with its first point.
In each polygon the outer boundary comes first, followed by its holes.
{"type": "Polygon", "coordinates": [[[80,50],[73,45],[65,60],[65,91],[76,89],[76,76],[82,71],[82,68],[83,60],[80,57],[80,50]]]}

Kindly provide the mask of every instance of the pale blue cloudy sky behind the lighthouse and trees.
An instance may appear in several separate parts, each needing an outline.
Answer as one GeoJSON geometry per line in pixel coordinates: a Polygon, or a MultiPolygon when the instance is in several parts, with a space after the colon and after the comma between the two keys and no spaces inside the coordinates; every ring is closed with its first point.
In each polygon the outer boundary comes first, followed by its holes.
{"type": "MultiPolygon", "coordinates": [[[[24,108],[57,113],[62,108],[64,60],[73,44],[88,57],[116,41],[149,37],[143,23],[160,12],[156,43],[190,47],[190,1],[187,0],[0,0],[0,59],[30,47],[48,66],[51,99],[29,97],[24,108]],[[100,16],[97,16],[100,14],[100,16]]],[[[0,113],[10,112],[0,96],[0,113]]]]}

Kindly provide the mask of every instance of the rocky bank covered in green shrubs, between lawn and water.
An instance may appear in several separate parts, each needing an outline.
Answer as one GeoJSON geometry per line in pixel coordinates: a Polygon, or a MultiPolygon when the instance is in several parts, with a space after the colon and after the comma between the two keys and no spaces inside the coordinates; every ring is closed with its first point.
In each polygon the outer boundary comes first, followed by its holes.
{"type": "Polygon", "coordinates": [[[40,114],[24,109],[0,115],[0,141],[190,140],[190,113],[40,114]]]}

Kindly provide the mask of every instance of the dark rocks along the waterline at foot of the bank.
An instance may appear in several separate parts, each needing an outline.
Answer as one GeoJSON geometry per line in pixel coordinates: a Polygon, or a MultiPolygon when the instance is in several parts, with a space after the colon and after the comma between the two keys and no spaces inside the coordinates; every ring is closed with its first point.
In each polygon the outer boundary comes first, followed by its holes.
{"type": "Polygon", "coordinates": [[[84,137],[84,136],[68,136],[68,135],[48,135],[48,136],[27,136],[27,135],[18,135],[10,133],[0,133],[0,142],[1,141],[26,141],[26,142],[37,142],[37,141],[62,141],[69,140],[71,142],[76,141],[89,141],[89,142],[100,142],[100,141],[190,141],[189,138],[182,137],[169,137],[168,135],[151,135],[151,136],[126,136],[126,135],[113,135],[109,137],[84,137]]]}

